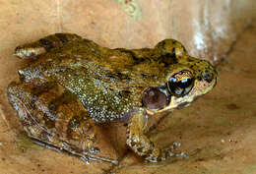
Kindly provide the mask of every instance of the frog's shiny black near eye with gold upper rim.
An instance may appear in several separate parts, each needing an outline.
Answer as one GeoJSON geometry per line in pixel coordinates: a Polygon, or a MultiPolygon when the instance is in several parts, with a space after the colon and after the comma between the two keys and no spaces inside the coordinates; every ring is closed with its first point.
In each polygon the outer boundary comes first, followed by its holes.
{"type": "Polygon", "coordinates": [[[182,70],[168,79],[168,89],[175,96],[183,96],[187,94],[194,86],[194,78],[188,70],[182,70]]]}

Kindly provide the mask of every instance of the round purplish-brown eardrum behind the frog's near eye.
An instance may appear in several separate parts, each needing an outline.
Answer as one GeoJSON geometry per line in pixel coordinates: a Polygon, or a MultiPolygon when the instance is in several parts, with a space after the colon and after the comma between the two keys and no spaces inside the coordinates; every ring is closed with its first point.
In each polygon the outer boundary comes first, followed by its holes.
{"type": "Polygon", "coordinates": [[[157,87],[149,87],[143,92],[142,102],[148,109],[159,110],[168,104],[168,98],[157,87]]]}

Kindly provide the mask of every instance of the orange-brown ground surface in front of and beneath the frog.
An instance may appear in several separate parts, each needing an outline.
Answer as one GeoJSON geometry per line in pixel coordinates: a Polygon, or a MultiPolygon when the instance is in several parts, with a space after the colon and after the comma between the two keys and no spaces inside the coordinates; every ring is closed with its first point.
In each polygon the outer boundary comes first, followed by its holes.
{"type": "MultiPolygon", "coordinates": [[[[0,173],[256,173],[256,28],[244,30],[218,65],[219,81],[213,91],[188,108],[160,121],[151,135],[160,145],[179,142],[190,157],[144,163],[125,151],[120,164],[111,166],[33,145],[21,132],[4,97],[1,80],[0,173]]],[[[119,146],[123,151],[122,145],[119,146]]]]}

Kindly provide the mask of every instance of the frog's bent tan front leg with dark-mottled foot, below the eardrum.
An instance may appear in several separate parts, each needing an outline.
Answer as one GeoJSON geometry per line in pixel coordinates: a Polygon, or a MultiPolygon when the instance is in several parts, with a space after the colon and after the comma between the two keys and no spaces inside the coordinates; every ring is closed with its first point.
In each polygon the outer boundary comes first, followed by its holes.
{"type": "Polygon", "coordinates": [[[176,156],[173,147],[163,148],[152,142],[146,135],[147,116],[144,109],[137,111],[130,119],[127,129],[127,145],[146,160],[157,162],[176,156]]]}

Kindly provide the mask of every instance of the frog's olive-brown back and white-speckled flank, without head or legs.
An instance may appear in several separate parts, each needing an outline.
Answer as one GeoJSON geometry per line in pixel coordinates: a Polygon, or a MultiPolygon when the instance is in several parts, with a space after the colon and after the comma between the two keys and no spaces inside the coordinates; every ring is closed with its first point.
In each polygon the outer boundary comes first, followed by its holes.
{"type": "Polygon", "coordinates": [[[79,97],[96,122],[105,122],[122,119],[140,107],[143,89],[156,81],[133,68],[129,53],[81,39],[40,55],[20,75],[60,84],[79,97]],[[122,64],[126,66],[118,66],[122,64]]]}

